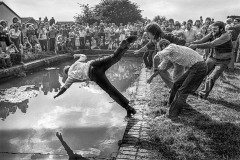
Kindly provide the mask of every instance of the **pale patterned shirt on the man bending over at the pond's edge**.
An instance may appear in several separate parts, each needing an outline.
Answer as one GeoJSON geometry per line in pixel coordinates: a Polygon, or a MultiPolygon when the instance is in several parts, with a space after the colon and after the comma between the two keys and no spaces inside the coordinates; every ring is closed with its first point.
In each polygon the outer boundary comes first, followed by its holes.
{"type": "Polygon", "coordinates": [[[197,62],[204,61],[203,57],[196,51],[185,46],[171,43],[162,51],[157,53],[160,60],[169,60],[184,67],[191,67],[197,62]]]}

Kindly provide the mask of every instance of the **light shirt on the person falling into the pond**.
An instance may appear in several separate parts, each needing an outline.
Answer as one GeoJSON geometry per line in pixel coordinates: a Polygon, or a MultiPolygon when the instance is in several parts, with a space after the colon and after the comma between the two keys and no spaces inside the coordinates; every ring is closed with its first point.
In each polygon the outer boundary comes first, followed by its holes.
{"type": "Polygon", "coordinates": [[[69,88],[74,82],[85,82],[89,81],[89,68],[92,61],[80,62],[79,60],[76,61],[71,65],[68,70],[68,78],[64,84],[64,88],[69,88]]]}

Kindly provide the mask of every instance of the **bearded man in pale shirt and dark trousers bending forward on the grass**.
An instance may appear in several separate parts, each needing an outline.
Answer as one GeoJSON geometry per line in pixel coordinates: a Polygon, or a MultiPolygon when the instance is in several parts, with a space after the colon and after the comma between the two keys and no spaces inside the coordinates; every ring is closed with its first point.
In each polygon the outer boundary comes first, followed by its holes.
{"type": "MultiPolygon", "coordinates": [[[[182,110],[182,106],[186,103],[188,95],[200,86],[207,73],[207,65],[203,57],[196,51],[185,47],[173,44],[165,39],[159,41],[159,47],[162,49],[154,56],[156,59],[169,60],[172,63],[177,63],[180,66],[189,68],[176,82],[173,83],[168,104],[169,118],[176,118],[182,110]]],[[[156,68],[156,67],[155,67],[156,68]]],[[[152,79],[158,75],[159,71],[147,80],[151,83],[152,79]]]]}

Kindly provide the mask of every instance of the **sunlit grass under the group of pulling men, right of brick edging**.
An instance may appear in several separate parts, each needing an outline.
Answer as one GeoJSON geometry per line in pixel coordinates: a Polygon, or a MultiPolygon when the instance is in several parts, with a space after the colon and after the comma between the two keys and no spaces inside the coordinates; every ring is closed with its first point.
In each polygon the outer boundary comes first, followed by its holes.
{"type": "Polygon", "coordinates": [[[224,76],[207,100],[190,95],[177,121],[165,116],[169,89],[160,77],[153,80],[148,134],[158,159],[240,159],[240,64],[224,76]]]}

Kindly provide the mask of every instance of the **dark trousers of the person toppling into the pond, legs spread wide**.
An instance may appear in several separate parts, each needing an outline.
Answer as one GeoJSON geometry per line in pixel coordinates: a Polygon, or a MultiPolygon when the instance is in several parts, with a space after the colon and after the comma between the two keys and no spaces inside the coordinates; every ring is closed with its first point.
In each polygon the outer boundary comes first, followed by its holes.
{"type": "Polygon", "coordinates": [[[99,58],[91,63],[89,77],[92,81],[96,82],[109,96],[115,100],[123,108],[128,108],[129,100],[125,98],[108,80],[106,77],[106,70],[108,70],[112,65],[117,63],[124,53],[128,50],[127,47],[124,49],[118,48],[114,51],[112,55],[107,57],[99,58]]]}

